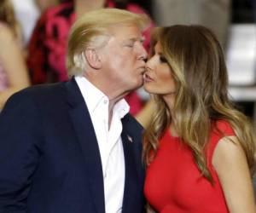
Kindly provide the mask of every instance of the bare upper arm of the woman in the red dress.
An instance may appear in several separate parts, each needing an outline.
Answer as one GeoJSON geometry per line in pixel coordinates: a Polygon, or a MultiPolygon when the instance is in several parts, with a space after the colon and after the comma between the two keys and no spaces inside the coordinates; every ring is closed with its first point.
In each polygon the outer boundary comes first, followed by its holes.
{"type": "Polygon", "coordinates": [[[236,136],[224,137],[218,142],[212,165],[217,171],[230,213],[255,213],[247,158],[236,136]]]}

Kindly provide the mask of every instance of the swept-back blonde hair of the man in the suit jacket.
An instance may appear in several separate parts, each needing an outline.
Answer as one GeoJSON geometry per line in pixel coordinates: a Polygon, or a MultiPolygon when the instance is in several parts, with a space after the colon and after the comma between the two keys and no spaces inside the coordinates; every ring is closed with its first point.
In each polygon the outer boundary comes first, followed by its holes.
{"type": "Polygon", "coordinates": [[[124,9],[96,9],[84,14],[71,28],[66,66],[68,76],[81,75],[86,67],[84,50],[99,49],[108,43],[111,27],[136,25],[143,31],[149,24],[145,14],[133,14],[124,9]]]}

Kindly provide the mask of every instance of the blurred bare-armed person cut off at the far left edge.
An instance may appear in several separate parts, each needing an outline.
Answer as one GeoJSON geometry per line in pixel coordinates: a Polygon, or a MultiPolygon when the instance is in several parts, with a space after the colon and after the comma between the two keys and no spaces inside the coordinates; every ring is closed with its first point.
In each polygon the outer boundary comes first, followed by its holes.
{"type": "Polygon", "coordinates": [[[29,85],[26,64],[21,52],[20,26],[9,0],[0,1],[0,110],[16,91],[29,85]]]}

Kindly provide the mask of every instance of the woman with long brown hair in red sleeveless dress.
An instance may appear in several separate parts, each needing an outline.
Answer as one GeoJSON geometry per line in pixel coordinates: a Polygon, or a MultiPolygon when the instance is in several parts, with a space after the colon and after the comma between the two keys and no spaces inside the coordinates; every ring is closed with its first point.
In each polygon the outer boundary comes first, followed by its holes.
{"type": "Polygon", "coordinates": [[[203,26],[157,28],[144,89],[158,110],[145,130],[144,192],[161,213],[255,213],[255,138],[228,99],[224,55],[203,26]]]}

